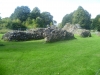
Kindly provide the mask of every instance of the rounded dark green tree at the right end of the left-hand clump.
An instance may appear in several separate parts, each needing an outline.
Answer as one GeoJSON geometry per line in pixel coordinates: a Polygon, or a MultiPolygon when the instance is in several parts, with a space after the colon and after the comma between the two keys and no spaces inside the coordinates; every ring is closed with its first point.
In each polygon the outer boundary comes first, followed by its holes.
{"type": "Polygon", "coordinates": [[[53,16],[49,12],[42,12],[41,18],[43,19],[44,27],[47,27],[47,25],[53,23],[53,16]]]}

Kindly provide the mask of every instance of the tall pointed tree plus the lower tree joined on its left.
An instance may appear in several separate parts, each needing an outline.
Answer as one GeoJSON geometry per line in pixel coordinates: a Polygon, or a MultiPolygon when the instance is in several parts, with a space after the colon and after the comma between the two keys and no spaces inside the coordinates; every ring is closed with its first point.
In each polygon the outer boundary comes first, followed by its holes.
{"type": "Polygon", "coordinates": [[[79,6],[78,9],[70,14],[66,14],[62,19],[62,26],[66,23],[80,24],[82,28],[90,29],[91,15],[83,7],[79,6]]]}

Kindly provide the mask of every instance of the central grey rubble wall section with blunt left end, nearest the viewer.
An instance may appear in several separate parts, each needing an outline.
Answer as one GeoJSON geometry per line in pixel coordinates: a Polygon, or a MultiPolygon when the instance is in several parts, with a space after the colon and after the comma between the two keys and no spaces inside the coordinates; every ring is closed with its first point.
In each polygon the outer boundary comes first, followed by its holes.
{"type": "Polygon", "coordinates": [[[44,31],[44,37],[46,42],[54,42],[59,40],[74,39],[74,34],[61,29],[47,28],[44,31]]]}

